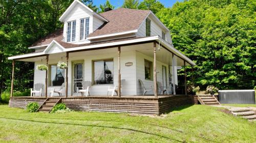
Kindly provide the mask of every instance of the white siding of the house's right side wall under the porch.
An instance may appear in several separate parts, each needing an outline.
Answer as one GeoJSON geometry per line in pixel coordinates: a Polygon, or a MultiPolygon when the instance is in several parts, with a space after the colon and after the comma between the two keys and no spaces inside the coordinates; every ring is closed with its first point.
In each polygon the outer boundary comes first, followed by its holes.
{"type": "MultiPolygon", "coordinates": [[[[153,80],[145,80],[145,67],[144,67],[144,60],[151,61],[154,66],[154,59],[150,56],[147,56],[141,52],[136,52],[136,84],[137,84],[137,95],[142,95],[143,94],[143,88],[141,87],[139,83],[139,79],[141,79],[144,83],[144,85],[154,85],[153,80]]],[[[168,65],[163,64],[159,61],[156,63],[157,65],[157,81],[163,82],[163,76],[162,76],[162,66],[166,67],[166,78],[167,78],[167,84],[169,83],[169,78],[168,78],[168,65]]],[[[154,67],[153,67],[154,68],[154,67]]],[[[154,70],[154,69],[153,69],[154,70]]],[[[154,71],[153,71],[154,74],[154,71]]],[[[154,88],[154,86],[153,86],[154,88]]],[[[153,92],[148,92],[146,93],[147,95],[153,95],[153,92]]]]}

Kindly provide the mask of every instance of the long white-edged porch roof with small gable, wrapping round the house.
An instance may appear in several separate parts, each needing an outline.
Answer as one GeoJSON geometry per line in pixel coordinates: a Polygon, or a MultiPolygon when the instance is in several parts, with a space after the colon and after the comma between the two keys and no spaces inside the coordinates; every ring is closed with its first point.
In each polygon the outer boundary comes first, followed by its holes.
{"type": "Polygon", "coordinates": [[[85,50],[94,50],[94,49],[104,49],[104,48],[113,48],[118,46],[129,46],[129,45],[137,45],[143,43],[152,43],[157,42],[159,45],[164,47],[169,52],[174,53],[180,59],[185,60],[190,65],[196,65],[193,61],[187,58],[186,55],[182,54],[179,50],[175,49],[172,45],[167,43],[159,36],[152,36],[152,37],[132,37],[132,38],[123,38],[117,40],[110,40],[104,42],[95,42],[95,43],[88,43],[88,44],[70,44],[62,41],[55,41],[53,40],[44,51],[41,52],[32,52],[23,55],[15,55],[8,58],[8,60],[16,60],[21,61],[24,59],[30,59],[40,56],[45,56],[48,53],[47,49],[52,44],[57,44],[62,49],[62,52],[77,52],[77,51],[85,51],[85,50]]]}

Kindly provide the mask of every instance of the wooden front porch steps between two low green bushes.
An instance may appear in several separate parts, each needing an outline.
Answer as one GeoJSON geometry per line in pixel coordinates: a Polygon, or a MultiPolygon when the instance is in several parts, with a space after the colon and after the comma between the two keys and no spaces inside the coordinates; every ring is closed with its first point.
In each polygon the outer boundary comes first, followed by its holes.
{"type": "Polygon", "coordinates": [[[56,104],[61,103],[61,98],[47,98],[37,109],[38,112],[50,112],[56,104]]]}

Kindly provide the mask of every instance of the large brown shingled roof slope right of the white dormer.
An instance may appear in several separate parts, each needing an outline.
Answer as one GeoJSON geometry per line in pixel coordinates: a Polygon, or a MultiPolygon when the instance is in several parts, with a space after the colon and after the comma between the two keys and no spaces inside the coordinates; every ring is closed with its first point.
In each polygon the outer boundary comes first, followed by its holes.
{"type": "Polygon", "coordinates": [[[148,10],[124,8],[100,13],[100,15],[108,19],[109,22],[91,33],[89,37],[137,30],[149,13],[150,11],[148,10]]]}

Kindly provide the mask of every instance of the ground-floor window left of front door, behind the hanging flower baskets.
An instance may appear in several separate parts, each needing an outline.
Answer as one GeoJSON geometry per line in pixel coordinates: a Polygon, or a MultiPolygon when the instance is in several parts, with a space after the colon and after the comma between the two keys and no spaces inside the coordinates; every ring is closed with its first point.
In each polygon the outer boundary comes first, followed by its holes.
{"type": "Polygon", "coordinates": [[[57,65],[50,66],[49,86],[61,86],[65,82],[65,69],[59,69],[57,65]]]}

